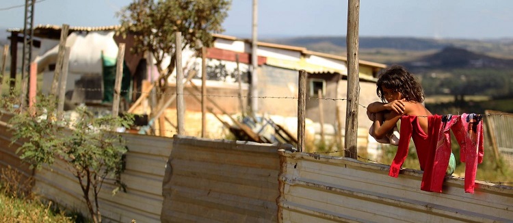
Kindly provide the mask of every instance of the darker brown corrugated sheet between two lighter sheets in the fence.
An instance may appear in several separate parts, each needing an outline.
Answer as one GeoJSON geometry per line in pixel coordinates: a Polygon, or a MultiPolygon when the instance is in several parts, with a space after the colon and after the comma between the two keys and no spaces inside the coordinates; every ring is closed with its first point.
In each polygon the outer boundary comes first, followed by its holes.
{"type": "Polygon", "coordinates": [[[276,222],[279,146],[174,137],[162,222],[276,222]]]}

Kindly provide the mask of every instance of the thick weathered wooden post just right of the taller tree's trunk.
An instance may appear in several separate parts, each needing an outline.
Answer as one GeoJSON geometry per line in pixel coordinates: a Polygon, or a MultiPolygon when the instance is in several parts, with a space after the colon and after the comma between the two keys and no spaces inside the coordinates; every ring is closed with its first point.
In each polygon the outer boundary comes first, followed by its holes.
{"type": "MultiPolygon", "coordinates": [[[[176,118],[178,134],[185,135],[185,103],[183,102],[182,33],[176,32],[176,118]]],[[[162,127],[161,127],[162,128],[162,127]]]]}

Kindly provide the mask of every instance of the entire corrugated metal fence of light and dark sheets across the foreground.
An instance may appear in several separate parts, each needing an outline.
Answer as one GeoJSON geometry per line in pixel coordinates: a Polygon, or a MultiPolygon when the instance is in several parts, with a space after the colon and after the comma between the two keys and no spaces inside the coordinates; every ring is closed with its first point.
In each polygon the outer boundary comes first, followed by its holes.
{"type": "MultiPolygon", "coordinates": [[[[2,166],[31,170],[0,128],[2,166]]],[[[444,193],[420,190],[421,172],[343,157],[291,153],[279,145],[193,137],[124,135],[128,192],[101,194],[105,222],[512,222],[513,187],[447,178],[444,193]],[[172,148],[172,149],[171,149],[172,148]],[[167,169],[166,169],[167,163],[167,169]],[[163,194],[163,196],[162,196],[163,194]]],[[[35,191],[84,210],[73,176],[56,163],[36,172],[35,191]]],[[[86,213],[86,212],[84,212],[86,213]]]]}

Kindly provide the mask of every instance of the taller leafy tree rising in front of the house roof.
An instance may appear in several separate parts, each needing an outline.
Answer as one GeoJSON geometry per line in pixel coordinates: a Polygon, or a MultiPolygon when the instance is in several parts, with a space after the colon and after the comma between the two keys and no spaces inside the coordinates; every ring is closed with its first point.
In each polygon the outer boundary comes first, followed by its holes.
{"type": "Polygon", "coordinates": [[[118,12],[118,34],[134,35],[133,53],[148,52],[155,57],[158,83],[164,90],[175,68],[176,32],[183,35],[182,49],[210,47],[212,33],[224,31],[221,25],[230,5],[231,0],[134,0],[118,12]],[[162,68],[166,55],[171,55],[170,64],[162,68]]]}

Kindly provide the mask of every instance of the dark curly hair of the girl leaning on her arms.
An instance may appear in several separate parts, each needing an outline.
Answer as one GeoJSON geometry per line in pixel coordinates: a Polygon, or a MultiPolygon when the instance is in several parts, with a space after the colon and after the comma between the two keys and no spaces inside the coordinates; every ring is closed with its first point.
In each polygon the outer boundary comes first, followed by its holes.
{"type": "Polygon", "coordinates": [[[424,101],[424,91],[422,90],[421,84],[417,82],[415,76],[408,72],[403,66],[393,65],[382,70],[376,86],[376,94],[378,94],[378,97],[380,97],[383,102],[386,101],[383,87],[401,93],[406,101],[417,101],[419,103],[424,101]]]}

